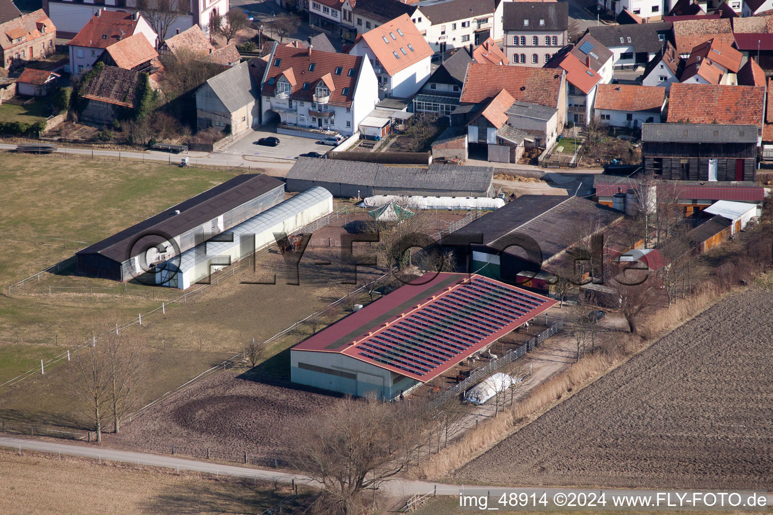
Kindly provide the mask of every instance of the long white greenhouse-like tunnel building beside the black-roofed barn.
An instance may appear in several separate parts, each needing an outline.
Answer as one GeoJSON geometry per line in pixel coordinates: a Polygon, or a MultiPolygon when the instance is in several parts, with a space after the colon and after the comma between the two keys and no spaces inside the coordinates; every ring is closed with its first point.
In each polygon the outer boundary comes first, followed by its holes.
{"type": "Polygon", "coordinates": [[[156,266],[156,284],[185,290],[257,249],[276,243],[275,234],[301,229],[333,210],[325,188],[311,188],[156,266]]]}

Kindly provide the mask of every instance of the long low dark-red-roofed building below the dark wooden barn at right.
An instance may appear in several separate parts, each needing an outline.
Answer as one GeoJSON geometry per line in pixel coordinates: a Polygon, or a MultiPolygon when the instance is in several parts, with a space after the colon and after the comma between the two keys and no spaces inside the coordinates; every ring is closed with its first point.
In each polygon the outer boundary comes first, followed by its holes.
{"type": "MultiPolygon", "coordinates": [[[[593,185],[596,201],[608,207],[616,193],[640,186],[635,179],[611,175],[595,175],[593,185]]],[[[765,189],[752,181],[655,181],[655,185],[659,198],[676,202],[688,216],[720,200],[754,204],[759,215],[765,196],[765,189]]]]}

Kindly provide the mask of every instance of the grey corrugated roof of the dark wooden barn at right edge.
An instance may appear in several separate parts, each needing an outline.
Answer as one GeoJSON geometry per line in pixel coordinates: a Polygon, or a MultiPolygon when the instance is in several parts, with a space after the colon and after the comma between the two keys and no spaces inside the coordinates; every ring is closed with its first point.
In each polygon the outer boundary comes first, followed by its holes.
{"type": "Polygon", "coordinates": [[[642,141],[663,143],[756,143],[758,126],[642,124],[642,141]]]}

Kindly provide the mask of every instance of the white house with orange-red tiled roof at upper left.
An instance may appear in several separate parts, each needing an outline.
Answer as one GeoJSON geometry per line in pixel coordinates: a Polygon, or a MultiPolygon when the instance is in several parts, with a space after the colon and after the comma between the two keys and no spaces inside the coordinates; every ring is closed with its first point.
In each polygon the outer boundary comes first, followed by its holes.
{"type": "Polygon", "coordinates": [[[87,72],[108,46],[138,33],[156,46],[158,36],[139,13],[97,9],[83,29],[67,43],[70,46],[70,73],[87,72]]]}

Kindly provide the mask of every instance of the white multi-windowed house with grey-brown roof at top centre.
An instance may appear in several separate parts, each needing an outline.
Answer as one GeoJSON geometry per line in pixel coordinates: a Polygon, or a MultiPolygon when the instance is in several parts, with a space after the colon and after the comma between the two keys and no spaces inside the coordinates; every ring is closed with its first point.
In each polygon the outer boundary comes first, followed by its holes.
{"type": "Polygon", "coordinates": [[[411,16],[436,52],[502,38],[502,6],[495,0],[421,0],[411,16]]]}

